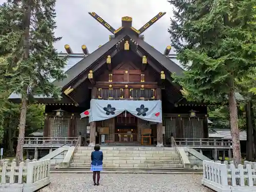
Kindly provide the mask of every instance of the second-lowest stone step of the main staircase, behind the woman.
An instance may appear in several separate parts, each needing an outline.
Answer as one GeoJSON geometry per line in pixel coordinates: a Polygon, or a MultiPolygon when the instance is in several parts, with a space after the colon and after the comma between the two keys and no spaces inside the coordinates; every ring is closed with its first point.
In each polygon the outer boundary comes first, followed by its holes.
{"type": "MultiPolygon", "coordinates": [[[[129,164],[132,164],[132,163],[135,163],[135,164],[147,164],[147,163],[150,163],[150,164],[180,164],[182,163],[182,161],[180,160],[177,160],[177,161],[174,161],[174,160],[104,160],[103,161],[104,163],[129,163],[129,164]]],[[[90,159],[87,159],[87,160],[84,160],[84,159],[74,159],[73,160],[73,163],[91,163],[91,160],[90,159]]]]}

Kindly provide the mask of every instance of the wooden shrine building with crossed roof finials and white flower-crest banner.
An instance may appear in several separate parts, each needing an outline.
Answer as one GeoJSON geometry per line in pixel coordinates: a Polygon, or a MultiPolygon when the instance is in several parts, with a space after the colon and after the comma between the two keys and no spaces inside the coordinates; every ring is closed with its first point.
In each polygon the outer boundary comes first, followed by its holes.
{"type": "MultiPolygon", "coordinates": [[[[182,75],[170,46],[160,53],[144,41],[143,32],[165,12],[158,13],[140,29],[131,17],[122,17],[114,29],[96,13],[89,13],[112,35],[109,41],[89,53],[68,56],[67,77],[54,81],[62,88],[60,100],[38,96],[46,104],[44,137],[82,136],[84,145],[150,144],[163,146],[175,138],[208,138],[207,106],[188,102],[181,86],[171,77],[182,75]]],[[[9,97],[18,102],[20,96],[9,97]]]]}

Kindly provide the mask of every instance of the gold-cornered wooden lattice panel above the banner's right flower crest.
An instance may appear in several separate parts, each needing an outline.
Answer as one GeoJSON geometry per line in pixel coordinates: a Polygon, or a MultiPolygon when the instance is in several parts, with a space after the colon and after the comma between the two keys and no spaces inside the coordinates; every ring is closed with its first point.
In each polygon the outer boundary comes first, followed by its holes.
{"type": "Polygon", "coordinates": [[[155,89],[130,89],[131,99],[155,99],[155,89]]]}

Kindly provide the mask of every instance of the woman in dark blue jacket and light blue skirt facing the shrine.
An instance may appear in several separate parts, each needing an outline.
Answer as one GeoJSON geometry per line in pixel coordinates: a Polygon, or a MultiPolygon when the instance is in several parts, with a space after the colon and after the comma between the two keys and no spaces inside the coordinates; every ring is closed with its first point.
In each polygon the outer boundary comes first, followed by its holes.
{"type": "Polygon", "coordinates": [[[99,145],[94,146],[94,152],[91,155],[91,171],[93,172],[93,185],[99,185],[100,172],[102,171],[102,160],[103,153],[100,150],[99,145]],[[96,183],[96,174],[97,174],[97,183],[96,183]]]}

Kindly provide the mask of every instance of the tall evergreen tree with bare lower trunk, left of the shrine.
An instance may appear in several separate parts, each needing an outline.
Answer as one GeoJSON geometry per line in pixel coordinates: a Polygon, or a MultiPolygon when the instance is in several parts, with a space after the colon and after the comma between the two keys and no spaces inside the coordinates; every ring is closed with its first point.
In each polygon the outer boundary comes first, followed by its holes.
{"type": "Polygon", "coordinates": [[[0,56],[7,57],[7,86],[21,95],[17,163],[23,157],[27,104],[35,95],[58,97],[66,58],[53,47],[56,0],[8,0],[0,7],[0,56]]]}

